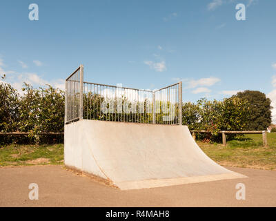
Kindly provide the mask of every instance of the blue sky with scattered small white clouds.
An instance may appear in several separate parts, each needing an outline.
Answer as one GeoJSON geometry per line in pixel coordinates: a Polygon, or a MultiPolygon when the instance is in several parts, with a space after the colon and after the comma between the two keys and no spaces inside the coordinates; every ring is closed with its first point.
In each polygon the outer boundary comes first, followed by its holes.
{"type": "Polygon", "coordinates": [[[155,89],[182,80],[185,102],[260,90],[276,107],[275,12],[274,0],[1,0],[0,72],[18,89],[63,88],[83,64],[86,81],[155,89]]]}

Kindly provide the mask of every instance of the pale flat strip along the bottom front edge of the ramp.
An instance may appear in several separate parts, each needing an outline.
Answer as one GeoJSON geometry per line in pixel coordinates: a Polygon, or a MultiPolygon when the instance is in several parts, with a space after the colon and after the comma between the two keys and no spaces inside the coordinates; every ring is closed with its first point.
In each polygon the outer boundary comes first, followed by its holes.
{"type": "Polygon", "coordinates": [[[216,180],[230,180],[247,178],[246,175],[240,173],[222,173],[216,175],[201,175],[196,177],[177,177],[170,179],[157,179],[157,180],[136,180],[136,181],[125,181],[125,182],[115,182],[115,185],[121,190],[130,189],[148,189],[161,186],[174,186],[181,184],[193,184],[199,182],[210,182],[216,180]]]}

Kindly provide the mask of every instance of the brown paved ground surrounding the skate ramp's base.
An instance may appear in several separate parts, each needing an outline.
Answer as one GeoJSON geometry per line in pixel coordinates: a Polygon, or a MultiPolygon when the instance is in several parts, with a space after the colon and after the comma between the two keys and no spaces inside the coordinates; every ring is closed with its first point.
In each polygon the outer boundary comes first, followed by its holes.
{"type": "Polygon", "coordinates": [[[276,171],[229,168],[249,178],[120,191],[62,166],[0,168],[0,206],[276,206],[276,171]],[[237,183],[246,200],[236,200],[237,183]],[[28,186],[39,185],[39,200],[28,186]]]}

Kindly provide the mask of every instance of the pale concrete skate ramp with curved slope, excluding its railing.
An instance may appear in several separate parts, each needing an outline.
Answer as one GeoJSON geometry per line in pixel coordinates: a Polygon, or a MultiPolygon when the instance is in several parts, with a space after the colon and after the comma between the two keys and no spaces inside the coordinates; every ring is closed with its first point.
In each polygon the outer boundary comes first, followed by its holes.
{"type": "Polygon", "coordinates": [[[246,177],[210,160],[187,126],[83,119],[65,126],[64,158],[119,189],[246,177]]]}

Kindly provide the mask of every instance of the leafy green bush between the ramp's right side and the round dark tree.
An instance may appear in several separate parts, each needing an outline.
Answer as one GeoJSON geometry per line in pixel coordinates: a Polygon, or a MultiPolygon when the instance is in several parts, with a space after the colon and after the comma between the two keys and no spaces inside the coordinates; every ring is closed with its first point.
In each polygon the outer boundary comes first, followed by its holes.
{"type": "MultiPolygon", "coordinates": [[[[190,130],[204,130],[210,133],[197,133],[205,140],[219,140],[219,131],[242,131],[248,126],[250,109],[246,100],[239,97],[226,98],[223,101],[200,99],[196,104],[183,105],[183,124],[190,130]]],[[[228,135],[231,138],[235,135],[228,135]]]]}

